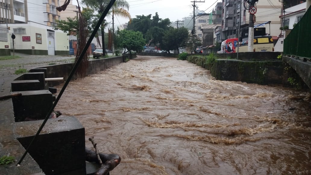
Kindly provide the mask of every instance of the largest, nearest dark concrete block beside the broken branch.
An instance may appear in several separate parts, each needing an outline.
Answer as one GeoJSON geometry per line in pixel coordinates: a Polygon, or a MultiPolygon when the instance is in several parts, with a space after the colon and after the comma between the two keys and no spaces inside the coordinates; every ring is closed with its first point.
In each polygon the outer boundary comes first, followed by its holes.
{"type": "MultiPolygon", "coordinates": [[[[15,133],[25,149],[41,124],[42,121],[16,123],[15,133]]],[[[75,117],[48,119],[29,154],[47,175],[85,175],[85,129],[75,117]]]]}

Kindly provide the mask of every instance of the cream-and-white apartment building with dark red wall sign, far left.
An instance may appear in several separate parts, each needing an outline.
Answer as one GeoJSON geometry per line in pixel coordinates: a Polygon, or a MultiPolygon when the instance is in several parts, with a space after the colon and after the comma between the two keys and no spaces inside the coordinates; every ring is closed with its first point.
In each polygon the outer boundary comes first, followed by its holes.
{"type": "Polygon", "coordinates": [[[55,30],[59,0],[0,0],[0,55],[16,52],[35,55],[68,54],[68,36],[55,30]],[[56,42],[57,41],[57,42],[56,42]]]}

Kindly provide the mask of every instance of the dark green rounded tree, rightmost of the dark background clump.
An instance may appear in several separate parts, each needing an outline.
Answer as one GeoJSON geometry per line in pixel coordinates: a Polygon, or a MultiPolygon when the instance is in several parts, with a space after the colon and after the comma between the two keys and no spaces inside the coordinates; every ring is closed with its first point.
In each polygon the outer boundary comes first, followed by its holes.
{"type": "Polygon", "coordinates": [[[163,36],[162,48],[167,50],[174,50],[179,48],[179,46],[185,45],[188,40],[188,29],[185,27],[180,27],[175,29],[170,27],[169,30],[163,36]]]}

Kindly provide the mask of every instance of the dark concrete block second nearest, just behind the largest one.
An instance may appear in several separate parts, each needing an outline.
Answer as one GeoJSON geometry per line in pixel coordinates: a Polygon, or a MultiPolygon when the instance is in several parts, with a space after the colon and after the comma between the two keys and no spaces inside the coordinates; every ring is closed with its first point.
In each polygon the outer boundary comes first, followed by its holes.
{"type": "Polygon", "coordinates": [[[44,119],[53,105],[49,90],[17,91],[21,96],[12,97],[15,122],[22,122],[26,117],[44,119]]]}

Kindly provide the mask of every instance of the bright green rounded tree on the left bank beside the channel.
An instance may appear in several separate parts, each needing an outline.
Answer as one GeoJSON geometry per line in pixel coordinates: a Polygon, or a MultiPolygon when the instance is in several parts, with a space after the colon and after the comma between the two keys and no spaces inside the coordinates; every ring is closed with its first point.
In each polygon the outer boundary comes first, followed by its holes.
{"type": "MultiPolygon", "coordinates": [[[[126,48],[131,54],[131,50],[141,52],[146,44],[142,33],[133,30],[120,30],[117,32],[118,48],[126,48]]],[[[125,53],[125,52],[124,52],[125,53]]]]}

